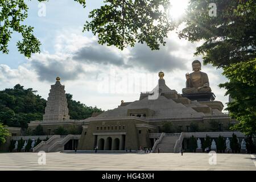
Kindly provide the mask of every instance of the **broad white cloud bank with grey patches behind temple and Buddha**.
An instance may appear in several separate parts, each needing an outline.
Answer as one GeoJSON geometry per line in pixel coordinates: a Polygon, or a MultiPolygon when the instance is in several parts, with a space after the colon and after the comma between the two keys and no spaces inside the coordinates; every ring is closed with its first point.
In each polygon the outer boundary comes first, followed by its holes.
{"type": "MultiPolygon", "coordinates": [[[[160,51],[136,44],[122,52],[101,46],[96,38],[74,30],[57,32],[53,44],[53,53],[48,50],[32,55],[18,69],[0,65],[0,88],[13,88],[19,83],[38,90],[38,94],[47,99],[50,85],[60,76],[66,93],[71,93],[74,100],[108,110],[117,107],[121,100],[138,100],[140,92],[151,91],[157,84],[159,71],[164,71],[167,86],[181,93],[185,73],[192,72],[192,61],[201,60],[193,57],[196,44],[172,34],[167,46],[160,51]]],[[[202,71],[208,74],[216,100],[225,104],[225,90],[217,86],[225,80],[221,70],[203,66],[202,71]]]]}

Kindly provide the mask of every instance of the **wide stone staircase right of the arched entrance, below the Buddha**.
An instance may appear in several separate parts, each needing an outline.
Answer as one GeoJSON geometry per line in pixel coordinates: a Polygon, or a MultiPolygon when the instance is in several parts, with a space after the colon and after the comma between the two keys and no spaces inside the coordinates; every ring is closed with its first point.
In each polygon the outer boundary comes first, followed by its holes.
{"type": "Polygon", "coordinates": [[[174,153],[174,146],[180,135],[166,135],[162,138],[160,143],[155,147],[155,153],[160,148],[160,153],[174,153]]]}

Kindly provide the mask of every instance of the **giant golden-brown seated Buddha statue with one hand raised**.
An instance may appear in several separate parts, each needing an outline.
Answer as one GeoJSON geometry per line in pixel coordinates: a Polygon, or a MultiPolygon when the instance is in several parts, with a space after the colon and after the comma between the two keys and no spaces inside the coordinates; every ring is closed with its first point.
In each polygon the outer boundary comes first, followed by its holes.
{"type": "Polygon", "coordinates": [[[186,88],[182,89],[183,94],[209,93],[212,92],[209,86],[207,73],[201,72],[201,63],[195,60],[192,63],[193,73],[186,74],[186,88]]]}

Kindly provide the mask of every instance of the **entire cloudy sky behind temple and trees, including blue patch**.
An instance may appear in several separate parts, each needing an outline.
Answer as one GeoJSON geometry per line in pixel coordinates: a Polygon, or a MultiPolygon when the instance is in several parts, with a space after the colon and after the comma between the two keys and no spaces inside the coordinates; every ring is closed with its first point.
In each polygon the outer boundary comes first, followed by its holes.
{"type": "MultiPolygon", "coordinates": [[[[158,51],[139,43],[123,51],[98,44],[97,36],[82,29],[89,20],[89,11],[99,8],[103,1],[88,0],[85,9],[71,0],[43,4],[25,1],[29,10],[24,24],[34,27],[34,35],[42,43],[41,52],[30,59],[20,55],[16,42],[21,37],[14,33],[9,42],[9,54],[0,52],[0,90],[20,84],[37,90],[37,94],[47,99],[51,85],[59,76],[73,100],[108,110],[120,105],[121,100],[139,100],[141,92],[154,89],[160,71],[164,72],[166,85],[181,93],[185,73],[192,72],[192,61],[198,59],[203,63],[201,56],[193,55],[201,43],[179,39],[175,31],[168,34],[166,46],[158,51]]],[[[172,15],[179,17],[186,3],[180,0],[174,4],[172,15]]],[[[221,75],[222,70],[202,64],[201,71],[208,74],[216,101],[226,107],[228,97],[224,96],[224,89],[218,88],[218,84],[227,81],[221,75]]]]}

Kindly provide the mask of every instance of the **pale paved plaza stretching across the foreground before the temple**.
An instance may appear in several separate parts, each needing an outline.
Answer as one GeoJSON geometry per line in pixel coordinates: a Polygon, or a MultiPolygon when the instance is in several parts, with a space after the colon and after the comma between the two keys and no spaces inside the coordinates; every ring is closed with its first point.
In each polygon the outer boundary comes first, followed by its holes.
{"type": "Polygon", "coordinates": [[[203,153],[88,154],[46,153],[39,165],[38,153],[0,153],[0,170],[256,170],[255,155],[217,154],[216,164],[203,153]]]}

